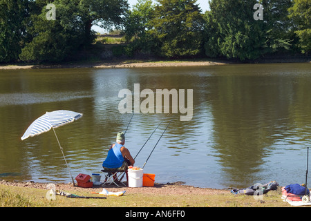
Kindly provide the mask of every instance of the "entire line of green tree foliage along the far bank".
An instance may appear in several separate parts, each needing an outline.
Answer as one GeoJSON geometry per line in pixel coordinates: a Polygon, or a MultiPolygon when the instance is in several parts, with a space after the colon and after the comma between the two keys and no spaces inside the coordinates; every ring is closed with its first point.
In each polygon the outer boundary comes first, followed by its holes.
{"type": "Polygon", "coordinates": [[[0,0],[0,62],[64,61],[95,39],[91,27],[123,28],[126,55],[253,60],[311,49],[310,0],[0,0]],[[263,19],[254,19],[254,5],[263,19]]]}

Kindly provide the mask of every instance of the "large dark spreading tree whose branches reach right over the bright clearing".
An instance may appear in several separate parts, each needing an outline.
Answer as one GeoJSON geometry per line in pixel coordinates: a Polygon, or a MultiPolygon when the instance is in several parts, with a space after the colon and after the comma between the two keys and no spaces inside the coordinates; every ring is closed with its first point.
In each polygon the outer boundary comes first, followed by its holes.
{"type": "Polygon", "coordinates": [[[23,61],[62,61],[95,39],[94,23],[117,26],[126,0],[56,0],[56,19],[47,20],[48,9],[32,15],[28,30],[32,39],[21,50],[23,61]]]}

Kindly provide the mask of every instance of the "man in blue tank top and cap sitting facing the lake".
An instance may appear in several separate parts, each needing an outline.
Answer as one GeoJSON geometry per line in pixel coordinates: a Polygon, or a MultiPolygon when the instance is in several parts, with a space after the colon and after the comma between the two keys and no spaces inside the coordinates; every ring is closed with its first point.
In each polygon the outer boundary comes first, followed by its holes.
{"type": "MultiPolygon", "coordinates": [[[[123,132],[117,133],[117,140],[109,148],[106,160],[102,163],[105,171],[124,171],[126,173],[126,181],[129,182],[127,174],[128,166],[134,166],[135,160],[125,146],[125,135],[123,132]]],[[[116,177],[114,177],[114,180],[116,177]]]]}

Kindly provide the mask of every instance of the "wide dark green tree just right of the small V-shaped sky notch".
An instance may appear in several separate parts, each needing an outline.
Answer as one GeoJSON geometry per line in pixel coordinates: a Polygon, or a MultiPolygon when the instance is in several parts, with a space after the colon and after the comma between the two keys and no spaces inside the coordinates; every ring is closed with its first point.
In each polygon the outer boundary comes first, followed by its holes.
{"type": "Polygon", "coordinates": [[[285,10],[289,0],[263,0],[263,20],[254,19],[256,1],[211,0],[205,14],[205,54],[229,59],[256,59],[279,48],[289,49],[285,10]],[[286,28],[285,28],[286,27],[286,28]]]}

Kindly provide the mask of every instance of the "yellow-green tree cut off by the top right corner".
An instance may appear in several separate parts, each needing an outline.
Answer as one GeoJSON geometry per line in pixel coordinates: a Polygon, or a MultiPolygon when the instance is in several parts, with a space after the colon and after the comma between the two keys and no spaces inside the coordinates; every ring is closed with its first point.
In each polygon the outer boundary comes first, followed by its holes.
{"type": "Polygon", "coordinates": [[[294,22],[294,33],[299,38],[299,48],[303,54],[308,54],[311,51],[311,2],[294,0],[288,11],[288,17],[294,22]]]}

